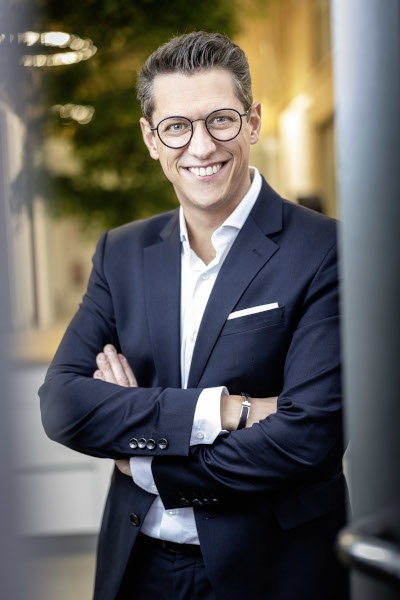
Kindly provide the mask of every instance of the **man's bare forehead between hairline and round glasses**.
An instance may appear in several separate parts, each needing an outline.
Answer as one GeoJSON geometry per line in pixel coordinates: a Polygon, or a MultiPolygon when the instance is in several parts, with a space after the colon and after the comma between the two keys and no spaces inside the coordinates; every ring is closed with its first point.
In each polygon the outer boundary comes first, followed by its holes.
{"type": "Polygon", "coordinates": [[[194,119],[217,108],[243,108],[232,75],[226,69],[209,69],[193,75],[157,75],[153,93],[156,121],[172,115],[194,119]]]}

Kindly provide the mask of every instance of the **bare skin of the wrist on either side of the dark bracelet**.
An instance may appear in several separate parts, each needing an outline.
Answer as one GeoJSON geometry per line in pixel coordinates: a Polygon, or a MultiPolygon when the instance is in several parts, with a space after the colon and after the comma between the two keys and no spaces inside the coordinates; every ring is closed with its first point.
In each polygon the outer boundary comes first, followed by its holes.
{"type": "MultiPolygon", "coordinates": [[[[278,396],[270,398],[251,398],[251,408],[246,427],[251,427],[273,415],[277,411],[278,396]]],[[[237,429],[242,409],[243,396],[222,396],[221,398],[221,424],[227,431],[237,429]]]]}

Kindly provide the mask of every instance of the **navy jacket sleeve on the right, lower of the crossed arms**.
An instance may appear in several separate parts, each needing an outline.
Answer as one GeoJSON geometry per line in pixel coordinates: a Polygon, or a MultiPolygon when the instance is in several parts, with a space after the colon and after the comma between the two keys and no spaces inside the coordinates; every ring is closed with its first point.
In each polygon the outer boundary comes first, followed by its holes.
{"type": "MultiPolygon", "coordinates": [[[[246,390],[251,394],[251,390],[246,390]]],[[[267,395],[267,394],[266,394],[267,395]]],[[[286,355],[278,411],[220,436],[190,456],[157,458],[153,475],[166,508],[231,503],[238,496],[329,480],[341,471],[342,396],[336,245],[302,303],[286,355]]],[[[253,496],[254,497],[254,496],[253,496]]]]}

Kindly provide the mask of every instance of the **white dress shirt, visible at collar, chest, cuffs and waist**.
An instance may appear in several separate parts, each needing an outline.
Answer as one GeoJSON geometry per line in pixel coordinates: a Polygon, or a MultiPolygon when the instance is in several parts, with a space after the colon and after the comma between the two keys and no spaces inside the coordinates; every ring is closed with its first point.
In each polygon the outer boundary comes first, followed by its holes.
{"type": "MultiPolygon", "coordinates": [[[[181,380],[187,387],[193,349],[201,319],[222,264],[246,221],[261,189],[261,175],[250,167],[252,184],[243,200],[226,221],[214,231],[211,242],[215,258],[206,265],[191,249],[182,207],[179,213],[181,236],[181,380]]],[[[221,431],[220,400],[224,387],[208,388],[197,401],[190,444],[212,444],[221,431]]],[[[142,532],[154,538],[185,544],[198,544],[192,508],[165,510],[157,492],[151,457],[132,457],[130,467],[137,485],[155,495],[142,526],[142,532]]]]}

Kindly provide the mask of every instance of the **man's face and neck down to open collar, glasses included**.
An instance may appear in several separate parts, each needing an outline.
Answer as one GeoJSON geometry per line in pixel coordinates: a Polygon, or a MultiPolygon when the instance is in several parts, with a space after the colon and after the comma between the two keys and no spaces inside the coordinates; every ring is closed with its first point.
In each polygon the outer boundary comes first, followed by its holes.
{"type": "Polygon", "coordinates": [[[219,67],[158,75],[153,86],[153,114],[141,119],[143,139],[174,186],[191,248],[209,260],[215,255],[211,235],[250,189],[249,152],[258,140],[260,104],[244,107],[231,73],[219,67]]]}

